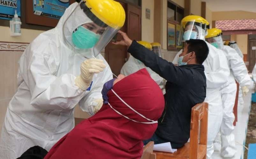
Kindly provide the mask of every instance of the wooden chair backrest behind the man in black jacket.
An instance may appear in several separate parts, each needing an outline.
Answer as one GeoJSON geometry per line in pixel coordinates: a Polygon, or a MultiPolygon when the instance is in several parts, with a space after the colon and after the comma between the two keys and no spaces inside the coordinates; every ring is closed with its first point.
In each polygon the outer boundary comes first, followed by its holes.
{"type": "Polygon", "coordinates": [[[189,159],[197,158],[199,136],[199,144],[207,145],[207,127],[208,103],[204,102],[195,105],[191,110],[189,159]]]}

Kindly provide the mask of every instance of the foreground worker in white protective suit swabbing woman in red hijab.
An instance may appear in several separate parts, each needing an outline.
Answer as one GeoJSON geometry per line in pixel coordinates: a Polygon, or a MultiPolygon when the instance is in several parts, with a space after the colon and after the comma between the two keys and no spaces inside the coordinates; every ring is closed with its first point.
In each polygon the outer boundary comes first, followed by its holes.
{"type": "Polygon", "coordinates": [[[33,40],[19,61],[18,91],[7,108],[0,158],[17,158],[34,145],[49,150],[74,127],[78,102],[91,115],[102,106],[102,86],[113,76],[104,58],[93,55],[124,21],[120,3],[81,1],[33,40]]]}

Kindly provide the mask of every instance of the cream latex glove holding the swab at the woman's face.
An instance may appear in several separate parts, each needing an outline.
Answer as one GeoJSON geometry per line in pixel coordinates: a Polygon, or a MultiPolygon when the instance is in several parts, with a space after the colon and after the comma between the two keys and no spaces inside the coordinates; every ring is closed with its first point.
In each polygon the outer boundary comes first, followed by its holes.
{"type": "Polygon", "coordinates": [[[85,60],[80,66],[81,74],[75,80],[76,85],[80,89],[86,90],[91,85],[93,74],[102,72],[105,67],[106,65],[101,59],[85,60]]]}

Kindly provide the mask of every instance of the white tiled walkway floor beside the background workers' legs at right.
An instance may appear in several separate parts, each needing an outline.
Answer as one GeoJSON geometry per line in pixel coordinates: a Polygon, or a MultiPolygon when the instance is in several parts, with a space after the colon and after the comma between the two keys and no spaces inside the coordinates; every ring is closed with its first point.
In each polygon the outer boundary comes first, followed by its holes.
{"type": "MultiPolygon", "coordinates": [[[[244,147],[247,133],[248,119],[251,109],[251,93],[250,91],[247,96],[244,97],[244,106],[238,106],[238,122],[235,127],[235,138],[237,145],[237,153],[233,158],[229,159],[243,159],[244,158],[244,147]]],[[[214,152],[212,159],[222,159],[220,152],[214,152]]]]}

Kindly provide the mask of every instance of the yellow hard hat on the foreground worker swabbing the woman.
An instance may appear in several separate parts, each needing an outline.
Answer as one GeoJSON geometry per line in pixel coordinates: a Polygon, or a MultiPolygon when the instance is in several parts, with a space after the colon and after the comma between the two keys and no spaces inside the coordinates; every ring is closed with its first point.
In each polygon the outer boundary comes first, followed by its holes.
{"type": "Polygon", "coordinates": [[[122,5],[114,0],[83,0],[89,10],[112,28],[121,28],[125,21],[122,5]]]}

